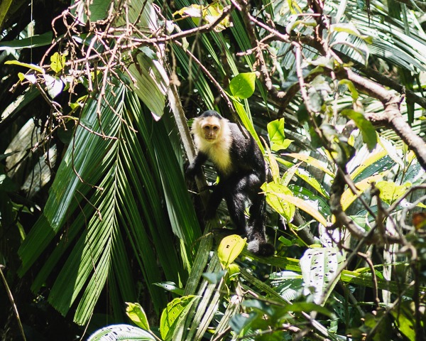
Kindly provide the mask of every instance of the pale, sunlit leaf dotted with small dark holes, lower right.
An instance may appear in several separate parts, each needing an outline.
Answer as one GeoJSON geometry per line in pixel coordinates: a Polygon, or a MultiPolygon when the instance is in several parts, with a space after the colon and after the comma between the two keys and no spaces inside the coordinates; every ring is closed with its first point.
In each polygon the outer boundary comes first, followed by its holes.
{"type": "Polygon", "coordinates": [[[300,258],[304,294],[312,294],[314,302],[323,305],[340,278],[339,264],[343,261],[337,248],[307,249],[300,258]]]}

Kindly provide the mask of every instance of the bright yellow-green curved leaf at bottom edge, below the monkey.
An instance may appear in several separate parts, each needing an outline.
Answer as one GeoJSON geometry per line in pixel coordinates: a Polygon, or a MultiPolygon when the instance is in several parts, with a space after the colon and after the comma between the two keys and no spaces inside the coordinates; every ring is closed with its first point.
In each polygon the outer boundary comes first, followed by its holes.
{"type": "Polygon", "coordinates": [[[175,298],[168,303],[167,307],[163,310],[160,318],[160,334],[163,340],[168,341],[171,339],[175,331],[178,321],[185,317],[185,314],[195,302],[197,296],[188,295],[181,298],[175,298]]]}

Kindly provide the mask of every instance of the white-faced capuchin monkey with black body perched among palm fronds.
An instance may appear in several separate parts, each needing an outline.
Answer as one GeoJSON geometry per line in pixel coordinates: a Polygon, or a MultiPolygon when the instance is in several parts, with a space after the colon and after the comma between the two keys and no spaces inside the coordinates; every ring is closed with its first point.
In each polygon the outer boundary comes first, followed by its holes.
{"type": "Polygon", "coordinates": [[[230,123],[217,112],[208,110],[192,124],[197,157],[187,168],[194,178],[201,166],[211,161],[219,175],[219,183],[210,195],[206,219],[214,217],[222,198],[226,200],[231,220],[238,234],[246,234],[249,251],[259,256],[272,256],[275,249],[266,242],[266,201],[261,185],[266,181],[265,161],[256,141],[239,126],[230,123]],[[244,211],[251,202],[248,224],[244,211]]]}

